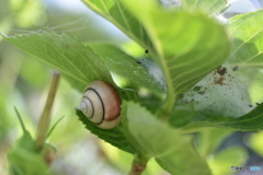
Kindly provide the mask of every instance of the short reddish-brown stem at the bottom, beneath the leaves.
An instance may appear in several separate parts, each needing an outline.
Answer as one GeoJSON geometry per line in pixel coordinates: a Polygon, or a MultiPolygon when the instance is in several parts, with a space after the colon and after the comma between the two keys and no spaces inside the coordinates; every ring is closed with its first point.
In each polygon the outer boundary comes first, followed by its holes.
{"type": "Polygon", "coordinates": [[[145,170],[149,159],[142,155],[135,155],[132,170],[128,175],[140,175],[145,170]]]}

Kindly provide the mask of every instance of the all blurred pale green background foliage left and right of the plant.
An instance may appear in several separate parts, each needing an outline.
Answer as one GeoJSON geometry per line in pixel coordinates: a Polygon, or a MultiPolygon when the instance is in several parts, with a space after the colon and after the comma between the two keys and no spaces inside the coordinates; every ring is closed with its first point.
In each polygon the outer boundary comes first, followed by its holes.
{"type": "MultiPolygon", "coordinates": [[[[122,46],[130,55],[144,57],[141,48],[111,23],[75,0],[0,0],[0,31],[8,35],[37,31],[67,33],[83,43],[112,43],[122,46]]],[[[27,129],[34,136],[47,96],[52,71],[31,55],[1,39],[0,174],[7,175],[7,151],[22,135],[13,106],[18,107],[27,129]]],[[[259,101],[258,94],[262,91],[259,84],[251,86],[253,102],[259,101]]],[[[80,96],[65,80],[60,81],[53,122],[61,116],[65,118],[48,139],[58,150],[52,174],[126,174],[133,155],[99,140],[82,127],[75,115],[80,96]]],[[[263,132],[242,133],[211,129],[194,137],[198,152],[207,159],[215,175],[231,174],[230,166],[263,164],[263,132]]],[[[145,175],[153,174],[167,173],[152,160],[145,175]]]]}

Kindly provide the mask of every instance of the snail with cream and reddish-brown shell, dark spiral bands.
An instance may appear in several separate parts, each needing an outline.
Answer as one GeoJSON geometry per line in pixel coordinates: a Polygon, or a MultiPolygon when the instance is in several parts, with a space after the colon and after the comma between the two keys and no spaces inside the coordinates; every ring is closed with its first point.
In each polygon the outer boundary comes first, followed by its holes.
{"type": "Polygon", "coordinates": [[[94,81],[84,91],[80,110],[98,127],[112,129],[121,120],[121,98],[111,84],[94,81]]]}

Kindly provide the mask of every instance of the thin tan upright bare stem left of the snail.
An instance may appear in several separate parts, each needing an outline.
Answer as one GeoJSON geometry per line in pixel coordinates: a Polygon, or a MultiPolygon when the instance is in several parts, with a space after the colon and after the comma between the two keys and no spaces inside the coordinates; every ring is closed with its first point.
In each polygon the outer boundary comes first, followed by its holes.
{"type": "Polygon", "coordinates": [[[43,148],[43,144],[45,143],[45,140],[46,140],[47,131],[50,124],[50,113],[52,113],[54,100],[57,93],[59,78],[60,78],[60,73],[58,71],[54,71],[46,105],[44,107],[44,110],[42,113],[41,120],[37,127],[36,144],[39,150],[43,148]]]}

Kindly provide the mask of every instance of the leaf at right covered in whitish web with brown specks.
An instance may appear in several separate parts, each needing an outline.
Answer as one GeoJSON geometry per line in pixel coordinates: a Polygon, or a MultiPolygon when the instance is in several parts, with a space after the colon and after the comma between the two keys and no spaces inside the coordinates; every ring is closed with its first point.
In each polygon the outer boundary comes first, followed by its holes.
{"type": "MultiPolygon", "coordinates": [[[[233,71],[231,67],[222,66],[218,68],[176,102],[176,107],[170,120],[172,126],[187,128],[187,126],[192,125],[192,131],[205,127],[226,127],[225,124],[228,125],[228,119],[235,121],[256,106],[255,103],[252,104],[250,101],[248,83],[247,78],[241,77],[239,71],[233,71]],[[220,75],[219,70],[224,69],[225,73],[220,75]]],[[[243,122],[231,127],[228,126],[228,129],[259,129],[258,127],[253,128],[252,125],[250,128],[245,127],[247,124],[243,122]]]]}

